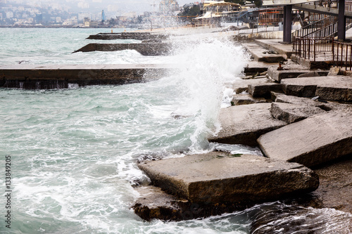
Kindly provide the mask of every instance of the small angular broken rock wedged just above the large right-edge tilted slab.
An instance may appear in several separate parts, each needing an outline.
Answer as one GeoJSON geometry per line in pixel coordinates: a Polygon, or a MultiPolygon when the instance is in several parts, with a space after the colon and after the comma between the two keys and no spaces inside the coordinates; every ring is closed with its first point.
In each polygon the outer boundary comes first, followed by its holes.
{"type": "Polygon", "coordinates": [[[325,112],[325,110],[315,106],[289,103],[272,103],[270,108],[272,117],[287,122],[287,124],[301,121],[322,112],[325,112]]]}

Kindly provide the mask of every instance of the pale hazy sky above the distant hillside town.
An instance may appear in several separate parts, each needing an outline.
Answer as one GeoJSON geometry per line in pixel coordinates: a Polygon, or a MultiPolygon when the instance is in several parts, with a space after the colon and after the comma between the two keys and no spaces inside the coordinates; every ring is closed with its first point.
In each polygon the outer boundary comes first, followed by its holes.
{"type": "MultiPolygon", "coordinates": [[[[4,2],[5,0],[0,0],[4,2]]],[[[137,11],[143,13],[144,11],[153,11],[153,4],[155,9],[158,9],[159,2],[161,0],[7,0],[9,4],[51,4],[56,6],[68,6],[71,11],[89,11],[98,12],[104,9],[104,11],[115,11],[115,12],[128,12],[137,11]]],[[[189,4],[191,0],[178,0],[180,6],[189,4]]]]}

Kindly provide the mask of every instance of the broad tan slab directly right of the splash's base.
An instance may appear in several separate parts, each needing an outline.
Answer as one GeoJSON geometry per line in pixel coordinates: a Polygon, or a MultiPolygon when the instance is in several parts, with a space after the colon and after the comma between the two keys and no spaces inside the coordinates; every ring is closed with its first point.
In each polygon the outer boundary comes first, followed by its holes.
{"type": "Polygon", "coordinates": [[[221,130],[208,140],[218,143],[257,145],[256,139],[287,123],[272,118],[271,103],[234,105],[220,110],[221,130]]]}

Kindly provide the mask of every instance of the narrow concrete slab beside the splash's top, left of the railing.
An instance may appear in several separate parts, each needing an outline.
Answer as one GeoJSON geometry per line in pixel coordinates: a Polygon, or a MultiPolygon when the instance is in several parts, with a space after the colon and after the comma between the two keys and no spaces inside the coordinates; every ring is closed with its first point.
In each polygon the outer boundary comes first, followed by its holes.
{"type": "Polygon", "coordinates": [[[253,60],[267,63],[279,63],[286,61],[287,56],[285,54],[277,53],[276,51],[268,50],[255,42],[241,43],[247,51],[252,55],[253,60]],[[275,53],[272,53],[275,52],[275,53]]]}

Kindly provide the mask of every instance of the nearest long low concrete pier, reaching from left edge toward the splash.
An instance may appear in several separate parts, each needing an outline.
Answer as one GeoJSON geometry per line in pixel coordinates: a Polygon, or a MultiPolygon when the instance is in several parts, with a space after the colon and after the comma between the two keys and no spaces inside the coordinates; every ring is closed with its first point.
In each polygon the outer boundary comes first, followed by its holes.
{"type": "Polygon", "coordinates": [[[130,84],[158,79],[171,65],[2,65],[0,87],[67,89],[96,84],[130,84]]]}

